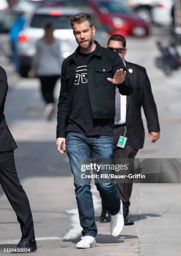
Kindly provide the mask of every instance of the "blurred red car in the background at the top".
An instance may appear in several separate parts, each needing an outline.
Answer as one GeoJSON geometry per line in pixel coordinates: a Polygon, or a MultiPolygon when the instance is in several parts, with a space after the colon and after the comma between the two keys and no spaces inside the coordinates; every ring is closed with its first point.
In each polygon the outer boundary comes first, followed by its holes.
{"type": "Polygon", "coordinates": [[[97,11],[110,35],[144,37],[149,35],[149,26],[127,5],[125,0],[87,0],[97,11]]]}

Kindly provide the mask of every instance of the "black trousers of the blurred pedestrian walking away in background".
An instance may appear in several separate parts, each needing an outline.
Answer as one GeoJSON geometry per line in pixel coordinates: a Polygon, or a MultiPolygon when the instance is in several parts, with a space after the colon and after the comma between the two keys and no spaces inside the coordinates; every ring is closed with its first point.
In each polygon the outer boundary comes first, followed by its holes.
{"type": "Polygon", "coordinates": [[[39,76],[41,82],[41,93],[46,104],[54,103],[54,87],[59,75],[39,76]]]}

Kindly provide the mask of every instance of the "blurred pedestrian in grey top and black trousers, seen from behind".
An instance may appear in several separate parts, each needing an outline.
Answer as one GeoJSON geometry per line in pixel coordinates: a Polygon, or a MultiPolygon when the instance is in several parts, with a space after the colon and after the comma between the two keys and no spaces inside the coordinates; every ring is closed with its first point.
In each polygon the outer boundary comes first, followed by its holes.
{"type": "Polygon", "coordinates": [[[60,40],[54,37],[54,26],[44,26],[44,36],[36,44],[33,60],[35,75],[40,79],[41,93],[46,102],[44,117],[51,120],[54,113],[54,88],[61,73],[60,40]]]}

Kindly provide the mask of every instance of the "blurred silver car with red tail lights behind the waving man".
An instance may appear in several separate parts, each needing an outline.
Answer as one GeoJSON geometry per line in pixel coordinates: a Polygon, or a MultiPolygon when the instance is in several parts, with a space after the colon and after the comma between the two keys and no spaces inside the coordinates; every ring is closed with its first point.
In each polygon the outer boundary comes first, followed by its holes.
{"type": "MultiPolygon", "coordinates": [[[[25,23],[23,31],[19,33],[17,41],[18,59],[20,62],[20,74],[22,77],[28,77],[31,69],[32,59],[36,53],[36,42],[43,36],[43,26],[45,23],[52,23],[56,28],[54,36],[61,40],[61,59],[62,61],[72,54],[77,43],[73,35],[69,18],[80,12],[88,12],[82,8],[39,8],[25,23]]],[[[89,12],[90,13],[90,12],[89,12]]],[[[105,32],[99,20],[94,13],[90,13],[96,27],[95,40],[99,41],[102,46],[106,46],[108,34],[105,32]]]]}

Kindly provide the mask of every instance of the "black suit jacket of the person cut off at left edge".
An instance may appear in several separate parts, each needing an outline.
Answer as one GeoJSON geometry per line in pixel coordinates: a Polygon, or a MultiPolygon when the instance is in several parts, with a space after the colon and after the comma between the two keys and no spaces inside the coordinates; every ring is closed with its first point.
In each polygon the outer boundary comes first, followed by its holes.
{"type": "Polygon", "coordinates": [[[0,152],[11,151],[17,148],[17,145],[5,121],[4,107],[7,91],[7,75],[5,70],[0,66],[0,152]]]}

